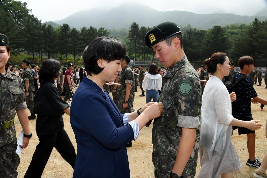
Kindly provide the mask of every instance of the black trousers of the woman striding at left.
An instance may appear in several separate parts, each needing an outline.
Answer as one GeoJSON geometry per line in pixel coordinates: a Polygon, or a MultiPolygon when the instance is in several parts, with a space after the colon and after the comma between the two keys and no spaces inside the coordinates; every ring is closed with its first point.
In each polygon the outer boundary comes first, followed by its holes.
{"type": "Polygon", "coordinates": [[[36,146],[24,178],[41,177],[53,147],[74,168],[76,159],[75,149],[64,129],[51,135],[39,136],[39,141],[40,143],[36,146]]]}

